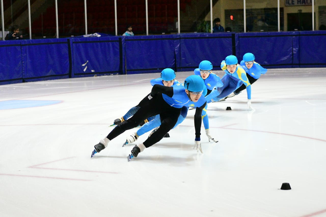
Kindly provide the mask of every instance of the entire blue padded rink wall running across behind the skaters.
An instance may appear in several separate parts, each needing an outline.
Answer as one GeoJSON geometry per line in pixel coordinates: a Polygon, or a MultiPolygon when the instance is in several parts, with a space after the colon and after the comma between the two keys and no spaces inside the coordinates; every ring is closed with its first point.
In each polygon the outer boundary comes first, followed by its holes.
{"type": "Polygon", "coordinates": [[[228,55],[255,54],[265,68],[326,67],[326,31],[190,33],[71,37],[0,42],[0,84],[192,71],[209,60],[214,70],[228,55]]]}

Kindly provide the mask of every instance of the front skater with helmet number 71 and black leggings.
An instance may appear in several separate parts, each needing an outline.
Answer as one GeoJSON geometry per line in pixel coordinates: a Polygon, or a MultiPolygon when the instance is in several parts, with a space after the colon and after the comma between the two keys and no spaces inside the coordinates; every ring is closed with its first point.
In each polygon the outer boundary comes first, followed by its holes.
{"type": "Polygon", "coordinates": [[[125,132],[128,129],[137,127],[139,123],[148,117],[159,114],[161,117],[161,126],[159,129],[148,137],[143,143],[135,145],[128,156],[128,160],[132,157],[137,157],[139,152],[154,145],[160,141],[164,135],[173,128],[180,115],[181,108],[184,106],[197,107],[194,122],[195,122],[195,147],[197,151],[202,152],[200,144],[200,127],[201,127],[201,112],[206,106],[204,95],[207,89],[203,80],[196,75],[191,75],[185,79],[184,85],[163,86],[155,84],[151,93],[141,108],[128,120],[119,123],[107,137],[104,137],[94,146],[95,153],[105,149],[109,142],[125,132]]]}

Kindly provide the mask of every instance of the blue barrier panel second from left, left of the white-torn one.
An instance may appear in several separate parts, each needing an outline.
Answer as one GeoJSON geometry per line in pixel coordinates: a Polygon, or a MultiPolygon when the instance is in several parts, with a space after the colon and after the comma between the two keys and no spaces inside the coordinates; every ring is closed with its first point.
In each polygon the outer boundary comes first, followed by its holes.
{"type": "Polygon", "coordinates": [[[69,76],[67,38],[21,40],[23,82],[69,76]]]}

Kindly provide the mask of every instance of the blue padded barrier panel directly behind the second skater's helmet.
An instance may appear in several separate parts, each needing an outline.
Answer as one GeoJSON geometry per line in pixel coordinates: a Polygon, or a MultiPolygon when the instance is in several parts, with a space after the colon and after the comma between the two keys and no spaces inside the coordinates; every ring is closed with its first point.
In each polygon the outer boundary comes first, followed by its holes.
{"type": "Polygon", "coordinates": [[[126,74],[176,70],[178,35],[122,36],[125,39],[126,74]]]}

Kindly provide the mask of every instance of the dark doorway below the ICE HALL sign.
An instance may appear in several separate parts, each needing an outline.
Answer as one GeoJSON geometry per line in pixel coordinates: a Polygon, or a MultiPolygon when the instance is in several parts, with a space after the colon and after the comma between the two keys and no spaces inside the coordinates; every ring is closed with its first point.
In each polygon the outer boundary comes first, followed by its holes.
{"type": "Polygon", "coordinates": [[[308,31],[312,30],[311,13],[289,13],[288,31],[308,31]]]}

